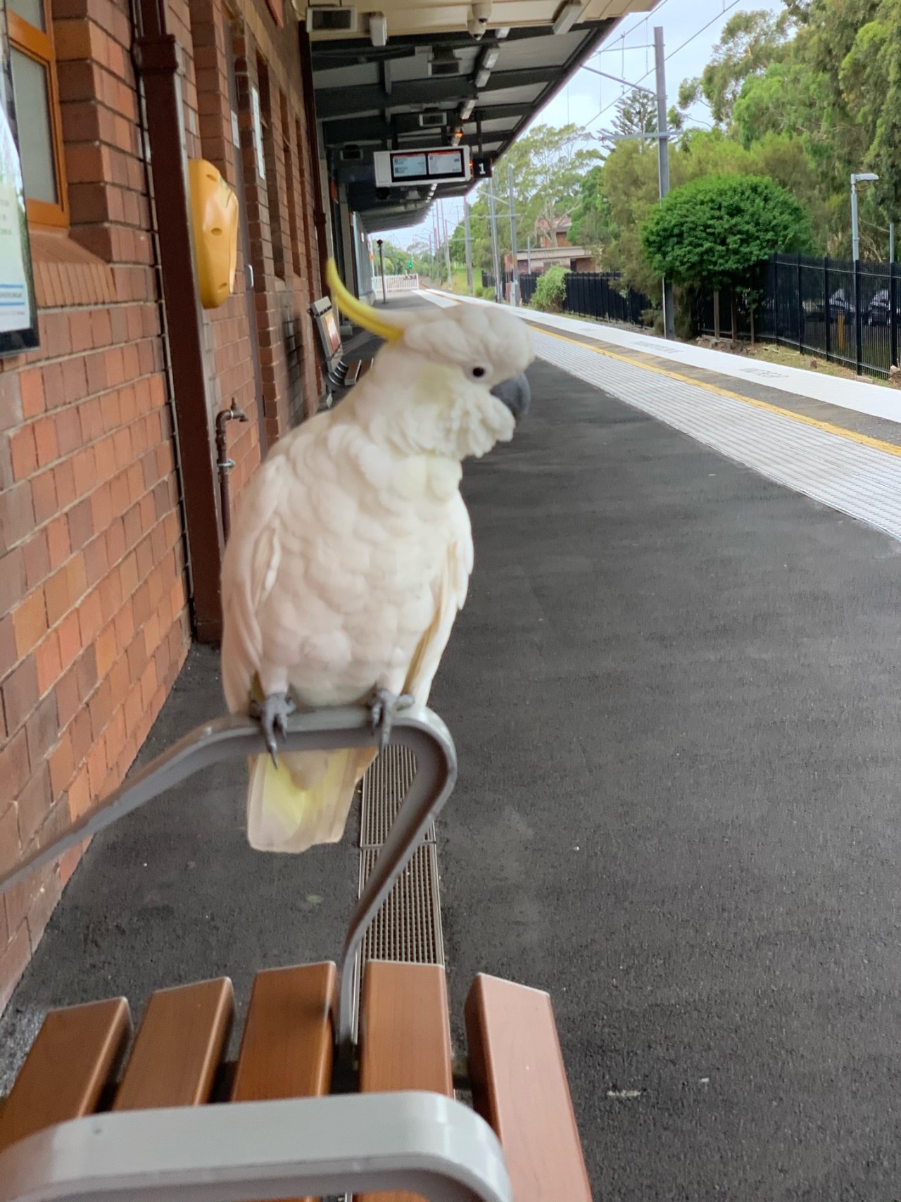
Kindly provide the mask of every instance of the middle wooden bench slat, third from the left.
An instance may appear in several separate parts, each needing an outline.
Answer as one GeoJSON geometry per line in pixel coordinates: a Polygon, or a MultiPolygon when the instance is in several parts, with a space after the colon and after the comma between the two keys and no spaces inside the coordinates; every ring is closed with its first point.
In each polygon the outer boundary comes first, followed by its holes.
{"type": "Polygon", "coordinates": [[[257,974],[238,1054],[233,1101],[328,1094],[335,978],[334,964],[257,974]]]}

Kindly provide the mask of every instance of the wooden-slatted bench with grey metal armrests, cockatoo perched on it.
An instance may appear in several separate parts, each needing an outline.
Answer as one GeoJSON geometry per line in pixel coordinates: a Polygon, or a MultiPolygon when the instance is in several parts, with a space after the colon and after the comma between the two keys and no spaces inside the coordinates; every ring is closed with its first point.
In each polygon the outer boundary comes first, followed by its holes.
{"type": "MultiPolygon", "coordinates": [[[[293,716],[287,749],[371,740],[366,712],[336,713],[330,727],[321,714],[293,716]]],[[[392,739],[414,752],[417,778],[351,918],[341,971],[326,963],[258,972],[234,1060],[226,977],[154,993],[135,1035],[124,998],[52,1011],[0,1108],[0,1202],[345,1192],[356,1202],[590,1202],[547,993],[476,977],[465,1079],[454,1079],[461,1061],[452,1059],[436,965],[365,963],[356,1042],[350,1034],[362,935],[455,772],[449,736],[428,710],[399,715],[392,739]]],[[[30,867],[258,742],[244,719],[198,727],[30,867]]]]}

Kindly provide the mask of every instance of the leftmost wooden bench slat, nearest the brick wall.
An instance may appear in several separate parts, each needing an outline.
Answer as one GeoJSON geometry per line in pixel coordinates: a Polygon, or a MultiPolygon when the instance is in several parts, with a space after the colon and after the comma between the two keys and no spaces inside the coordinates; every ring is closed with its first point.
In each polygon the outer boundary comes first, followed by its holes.
{"type": "Polygon", "coordinates": [[[96,1109],[131,1034],[125,998],[52,1010],[0,1112],[0,1152],[96,1109]]]}

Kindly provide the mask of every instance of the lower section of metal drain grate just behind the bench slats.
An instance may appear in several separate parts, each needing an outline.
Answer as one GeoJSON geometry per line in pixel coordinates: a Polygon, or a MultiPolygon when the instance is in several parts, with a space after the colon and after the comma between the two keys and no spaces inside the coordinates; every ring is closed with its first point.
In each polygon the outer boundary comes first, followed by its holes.
{"type": "MultiPolygon", "coordinates": [[[[377,847],[360,852],[363,888],[378,857],[377,847]]],[[[372,920],[363,940],[363,960],[402,960],[444,965],[438,897],[438,862],[434,843],[420,844],[372,920]]]]}

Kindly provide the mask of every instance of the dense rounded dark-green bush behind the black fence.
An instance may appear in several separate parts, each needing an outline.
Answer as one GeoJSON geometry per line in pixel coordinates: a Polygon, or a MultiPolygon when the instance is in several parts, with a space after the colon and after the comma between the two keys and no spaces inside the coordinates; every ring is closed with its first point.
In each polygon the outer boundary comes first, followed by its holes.
{"type": "Polygon", "coordinates": [[[745,284],[776,251],[811,249],[810,218],[764,175],[708,175],[669,194],[642,226],[650,268],[674,284],[745,284]]]}

